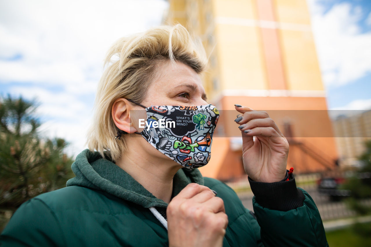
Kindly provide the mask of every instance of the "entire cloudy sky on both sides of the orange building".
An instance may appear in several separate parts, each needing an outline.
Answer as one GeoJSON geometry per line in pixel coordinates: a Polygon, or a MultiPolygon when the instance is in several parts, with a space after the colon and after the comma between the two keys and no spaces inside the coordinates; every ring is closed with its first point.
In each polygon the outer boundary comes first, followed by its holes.
{"type": "MultiPolygon", "coordinates": [[[[371,109],[371,1],[308,0],[329,109],[371,109]]],[[[37,99],[43,135],[85,146],[106,51],[165,0],[0,0],[0,94],[37,99]]]]}

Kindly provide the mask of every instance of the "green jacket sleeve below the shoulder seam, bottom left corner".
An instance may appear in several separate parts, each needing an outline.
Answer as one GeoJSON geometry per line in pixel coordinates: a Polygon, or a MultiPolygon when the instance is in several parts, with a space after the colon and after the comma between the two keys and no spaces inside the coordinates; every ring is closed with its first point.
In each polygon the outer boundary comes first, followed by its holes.
{"type": "Polygon", "coordinates": [[[1,247],[65,246],[53,211],[38,198],[24,202],[0,235],[1,247]]]}

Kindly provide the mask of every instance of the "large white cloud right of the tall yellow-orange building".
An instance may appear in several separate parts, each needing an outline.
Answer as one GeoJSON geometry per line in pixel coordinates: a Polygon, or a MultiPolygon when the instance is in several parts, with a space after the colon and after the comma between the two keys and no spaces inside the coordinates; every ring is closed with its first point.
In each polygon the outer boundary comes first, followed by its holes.
{"type": "Polygon", "coordinates": [[[371,32],[361,33],[360,7],[335,4],[328,12],[316,0],[308,0],[312,29],[327,87],[352,83],[371,72],[371,32]]]}

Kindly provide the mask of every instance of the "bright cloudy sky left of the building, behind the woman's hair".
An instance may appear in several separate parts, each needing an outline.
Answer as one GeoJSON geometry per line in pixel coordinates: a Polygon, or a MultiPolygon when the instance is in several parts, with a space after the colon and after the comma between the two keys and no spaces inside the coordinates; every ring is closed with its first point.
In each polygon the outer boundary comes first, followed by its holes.
{"type": "Polygon", "coordinates": [[[65,138],[76,155],[85,148],[106,51],[119,37],[160,24],[167,7],[165,0],[1,1],[0,83],[12,95],[37,97],[43,135],[65,138]]]}

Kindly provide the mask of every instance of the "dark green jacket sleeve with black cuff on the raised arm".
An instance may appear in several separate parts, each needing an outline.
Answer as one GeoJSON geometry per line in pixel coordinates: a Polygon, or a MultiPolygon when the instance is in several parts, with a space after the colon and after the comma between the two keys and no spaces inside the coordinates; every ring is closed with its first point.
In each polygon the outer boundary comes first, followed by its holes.
{"type": "Polygon", "coordinates": [[[293,174],[289,181],[249,182],[265,247],[328,246],[318,209],[308,192],[296,188],[293,174]]]}

